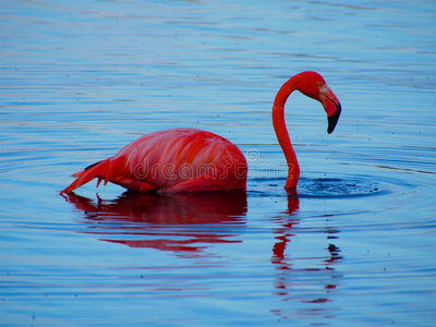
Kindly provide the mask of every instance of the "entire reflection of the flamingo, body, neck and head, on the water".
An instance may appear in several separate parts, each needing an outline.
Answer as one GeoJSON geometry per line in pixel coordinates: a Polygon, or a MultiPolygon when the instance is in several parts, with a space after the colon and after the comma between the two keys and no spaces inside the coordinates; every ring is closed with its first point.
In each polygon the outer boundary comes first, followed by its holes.
{"type": "MultiPolygon", "coordinates": [[[[245,233],[247,198],[245,192],[205,192],[193,194],[158,195],[148,193],[124,193],[116,201],[93,202],[89,198],[68,194],[68,201],[85,213],[89,230],[86,232],[101,237],[100,240],[124,244],[131,247],[156,249],[172,252],[180,257],[210,256],[205,253],[210,244],[241,243],[245,233]],[[93,223],[95,222],[95,223],[93,223]]],[[[295,268],[298,258],[292,258],[287,247],[299,233],[300,198],[296,192],[288,194],[288,208],[271,218],[276,243],[272,246],[271,264],[276,276],[274,294],[283,301],[296,301],[312,305],[331,302],[329,293],[337,288],[341,275],[335,265],[342,257],[340,249],[327,245],[327,256],[306,257],[304,268],[295,268]],[[314,261],[313,261],[314,259],[314,261]],[[319,278],[316,287],[322,287],[315,298],[301,296],[298,281],[307,281],[310,276],[319,278]],[[296,292],[296,294],[295,294],[296,292]]],[[[326,216],[326,219],[328,217],[326,216]]],[[[323,227],[328,243],[335,242],[335,228],[323,227]]],[[[304,254],[299,253],[301,258],[304,254]]],[[[312,280],[311,278],[308,280],[312,280]]],[[[316,279],[318,280],[318,279],[316,279]]],[[[270,312],[286,319],[286,310],[271,308],[270,312]]],[[[331,314],[316,308],[310,315],[317,317],[331,314]]]]}

